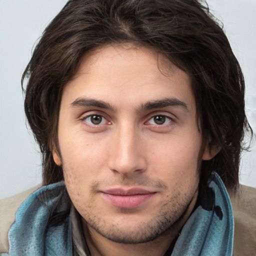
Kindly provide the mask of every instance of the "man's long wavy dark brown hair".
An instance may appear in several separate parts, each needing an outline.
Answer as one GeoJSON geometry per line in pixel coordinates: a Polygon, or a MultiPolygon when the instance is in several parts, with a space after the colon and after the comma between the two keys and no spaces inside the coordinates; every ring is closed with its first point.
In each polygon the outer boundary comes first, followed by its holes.
{"type": "Polygon", "coordinates": [[[42,153],[43,183],[63,179],[51,154],[64,85],[84,53],[107,43],[143,45],[164,53],[190,75],[204,141],[219,153],[201,164],[227,188],[238,183],[245,130],[244,79],[222,28],[196,0],[69,0],[44,30],[22,75],[25,113],[42,153]]]}

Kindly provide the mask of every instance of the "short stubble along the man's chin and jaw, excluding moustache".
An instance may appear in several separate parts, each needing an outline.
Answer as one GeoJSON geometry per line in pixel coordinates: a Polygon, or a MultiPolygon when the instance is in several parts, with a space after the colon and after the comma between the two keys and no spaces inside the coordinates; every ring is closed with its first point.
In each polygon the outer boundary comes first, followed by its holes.
{"type": "MultiPolygon", "coordinates": [[[[153,241],[169,233],[178,233],[180,223],[187,214],[194,194],[185,202],[177,202],[173,199],[166,202],[166,208],[161,209],[147,222],[137,223],[136,226],[126,223],[107,224],[104,219],[99,218],[94,213],[86,214],[83,223],[87,225],[87,228],[90,227],[101,236],[117,243],[139,244],[153,241]]],[[[179,197],[179,194],[174,197],[179,197]]],[[[132,209],[120,209],[121,214],[128,215],[131,211],[132,209]]]]}

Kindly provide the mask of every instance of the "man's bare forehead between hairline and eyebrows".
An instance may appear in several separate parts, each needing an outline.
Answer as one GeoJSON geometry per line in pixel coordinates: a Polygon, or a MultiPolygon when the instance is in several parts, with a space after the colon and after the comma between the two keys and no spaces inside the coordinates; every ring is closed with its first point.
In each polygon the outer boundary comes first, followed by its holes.
{"type": "Polygon", "coordinates": [[[78,97],[117,107],[166,97],[185,101],[190,108],[194,105],[190,77],[184,71],[163,54],[132,44],[107,45],[85,54],[62,100],[68,98],[70,104],[78,97]]]}

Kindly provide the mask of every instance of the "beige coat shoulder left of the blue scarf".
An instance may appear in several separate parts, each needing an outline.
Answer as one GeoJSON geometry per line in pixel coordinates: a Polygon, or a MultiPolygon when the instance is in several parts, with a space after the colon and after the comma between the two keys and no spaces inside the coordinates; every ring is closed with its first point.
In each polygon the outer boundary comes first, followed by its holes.
{"type": "Polygon", "coordinates": [[[8,252],[8,231],[15,220],[18,207],[39,187],[40,185],[37,185],[22,193],[0,200],[0,253],[8,252]]]}

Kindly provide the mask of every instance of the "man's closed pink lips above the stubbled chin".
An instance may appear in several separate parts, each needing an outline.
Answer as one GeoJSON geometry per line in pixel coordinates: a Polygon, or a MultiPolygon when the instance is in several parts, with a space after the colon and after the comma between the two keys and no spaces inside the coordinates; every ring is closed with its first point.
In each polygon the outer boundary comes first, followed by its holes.
{"type": "Polygon", "coordinates": [[[107,189],[102,191],[102,196],[113,206],[118,208],[135,208],[142,205],[155,192],[150,192],[141,188],[131,188],[124,190],[121,188],[107,189]]]}

